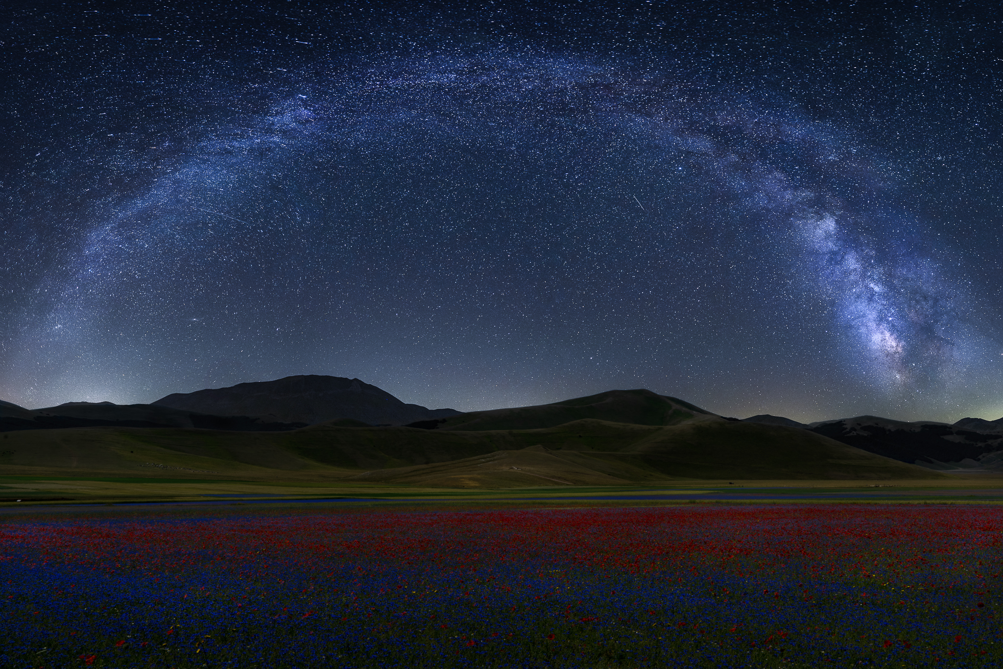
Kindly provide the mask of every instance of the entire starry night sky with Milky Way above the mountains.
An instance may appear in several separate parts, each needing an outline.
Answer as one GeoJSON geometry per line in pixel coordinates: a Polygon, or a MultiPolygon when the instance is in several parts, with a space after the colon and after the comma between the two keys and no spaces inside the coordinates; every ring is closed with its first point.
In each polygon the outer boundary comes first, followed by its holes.
{"type": "Polygon", "coordinates": [[[981,3],[16,4],[0,398],[1003,415],[981,3]]]}

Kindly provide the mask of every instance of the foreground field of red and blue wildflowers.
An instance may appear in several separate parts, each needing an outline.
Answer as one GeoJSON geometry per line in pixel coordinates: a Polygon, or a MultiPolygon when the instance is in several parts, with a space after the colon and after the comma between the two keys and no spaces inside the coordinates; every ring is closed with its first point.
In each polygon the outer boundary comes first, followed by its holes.
{"type": "Polygon", "coordinates": [[[1003,509],[22,520],[3,667],[1000,666],[1003,509]]]}

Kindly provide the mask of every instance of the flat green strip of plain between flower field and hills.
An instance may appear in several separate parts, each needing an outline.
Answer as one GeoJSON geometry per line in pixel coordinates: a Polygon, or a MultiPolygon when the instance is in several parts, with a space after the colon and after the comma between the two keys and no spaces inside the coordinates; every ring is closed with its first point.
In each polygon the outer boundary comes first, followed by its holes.
{"type": "Polygon", "coordinates": [[[301,505],[382,508],[462,504],[519,506],[539,504],[680,504],[689,501],[958,501],[1003,503],[1003,476],[945,476],[913,480],[677,480],[651,485],[543,485],[521,488],[457,489],[358,480],[235,480],[212,478],[127,478],[0,476],[0,514],[77,513],[81,506],[171,506],[223,504],[301,505]]]}

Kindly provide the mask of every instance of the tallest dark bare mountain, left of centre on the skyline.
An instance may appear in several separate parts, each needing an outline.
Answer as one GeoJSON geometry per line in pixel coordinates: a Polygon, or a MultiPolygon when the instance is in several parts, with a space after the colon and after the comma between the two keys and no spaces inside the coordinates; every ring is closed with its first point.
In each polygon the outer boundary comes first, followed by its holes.
{"type": "Polygon", "coordinates": [[[454,409],[405,404],[387,391],[357,378],[316,374],[174,393],[161,397],[153,405],[307,424],[351,418],[370,425],[401,425],[459,414],[454,409]]]}

